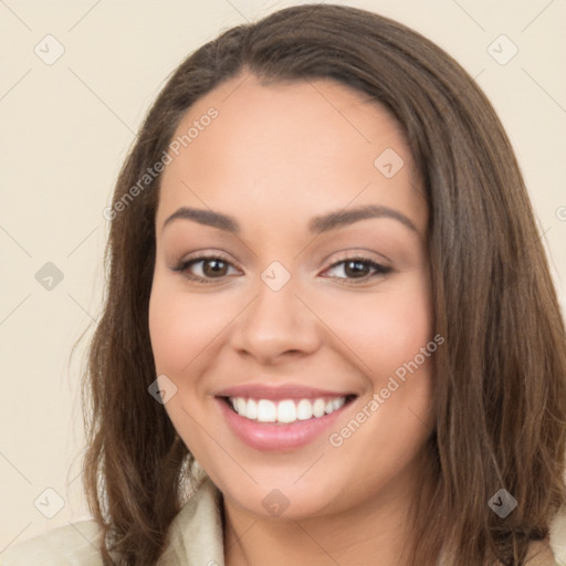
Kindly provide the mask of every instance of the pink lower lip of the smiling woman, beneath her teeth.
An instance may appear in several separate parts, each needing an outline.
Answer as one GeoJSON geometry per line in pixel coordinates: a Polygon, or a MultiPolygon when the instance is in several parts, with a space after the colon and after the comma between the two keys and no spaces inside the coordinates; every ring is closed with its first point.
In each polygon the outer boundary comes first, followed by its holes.
{"type": "Polygon", "coordinates": [[[217,398],[217,401],[220,403],[228,424],[240,440],[256,450],[273,451],[294,450],[308,444],[325,430],[328,430],[344,409],[350,405],[346,403],[324,417],[296,420],[290,424],[277,424],[240,417],[228,406],[226,400],[217,398]]]}

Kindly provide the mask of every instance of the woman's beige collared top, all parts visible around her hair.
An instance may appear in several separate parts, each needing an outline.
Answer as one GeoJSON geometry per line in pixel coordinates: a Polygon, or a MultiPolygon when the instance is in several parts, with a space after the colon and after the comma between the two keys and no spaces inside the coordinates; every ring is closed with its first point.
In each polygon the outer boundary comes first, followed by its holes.
{"type": "MultiPolygon", "coordinates": [[[[184,505],[170,526],[170,542],[157,566],[224,566],[220,492],[208,476],[184,505]]],[[[95,521],[81,521],[9,546],[0,566],[103,566],[97,548],[101,536],[95,521]]],[[[539,546],[530,566],[565,564],[549,558],[539,546]],[[542,551],[542,552],[541,552],[542,551]]],[[[564,557],[564,556],[563,556],[564,557]]],[[[442,564],[442,560],[441,560],[442,564]]]]}

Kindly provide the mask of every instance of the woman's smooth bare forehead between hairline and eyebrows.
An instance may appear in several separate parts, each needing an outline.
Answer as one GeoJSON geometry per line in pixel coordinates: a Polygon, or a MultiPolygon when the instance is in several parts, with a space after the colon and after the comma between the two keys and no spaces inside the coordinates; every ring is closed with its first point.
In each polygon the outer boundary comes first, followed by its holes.
{"type": "Polygon", "coordinates": [[[424,200],[401,128],[368,98],[332,80],[261,84],[241,75],[221,84],[176,130],[158,219],[192,206],[273,229],[282,217],[306,222],[378,203],[422,228],[424,200]]]}

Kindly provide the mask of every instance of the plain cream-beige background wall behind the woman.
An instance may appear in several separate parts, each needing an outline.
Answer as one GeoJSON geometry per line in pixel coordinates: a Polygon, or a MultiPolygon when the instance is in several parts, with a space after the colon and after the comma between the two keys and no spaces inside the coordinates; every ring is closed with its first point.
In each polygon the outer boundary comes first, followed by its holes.
{"type": "MultiPolygon", "coordinates": [[[[221,30],[297,3],[304,2],[0,0],[0,552],[88,516],[77,475],[84,343],[71,361],[70,354],[98,316],[107,231],[102,210],[143,116],[193,49],[221,30]],[[55,40],[44,40],[48,34],[55,40]],[[63,55],[46,64],[59,44],[63,55]],[[52,290],[35,279],[46,262],[63,275],[52,290]],[[45,517],[60,501],[64,506],[45,517]]],[[[517,153],[564,313],[566,2],[336,3],[412,27],[478,77],[517,153]],[[513,45],[516,55],[500,64],[513,45]]]]}

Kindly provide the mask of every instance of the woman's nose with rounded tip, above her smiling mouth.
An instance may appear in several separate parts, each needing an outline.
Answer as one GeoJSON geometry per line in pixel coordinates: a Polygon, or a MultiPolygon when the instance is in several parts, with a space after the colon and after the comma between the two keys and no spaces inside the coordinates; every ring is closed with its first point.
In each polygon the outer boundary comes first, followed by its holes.
{"type": "Polygon", "coordinates": [[[315,352],[321,323],[297,291],[293,277],[279,291],[260,280],[255,297],[234,321],[231,347],[264,365],[315,352]]]}

